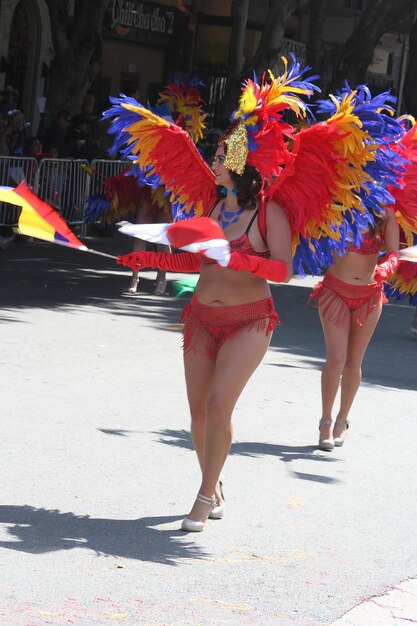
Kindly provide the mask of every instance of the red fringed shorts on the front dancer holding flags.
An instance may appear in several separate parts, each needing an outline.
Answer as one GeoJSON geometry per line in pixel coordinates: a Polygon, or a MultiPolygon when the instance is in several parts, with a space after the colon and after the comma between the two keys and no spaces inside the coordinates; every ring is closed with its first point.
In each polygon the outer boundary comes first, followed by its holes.
{"type": "Polygon", "coordinates": [[[184,307],[181,322],[184,322],[184,353],[201,343],[204,353],[212,359],[227,339],[254,326],[258,331],[271,333],[275,325],[281,324],[272,298],[239,304],[236,306],[210,306],[201,304],[193,295],[190,304],[184,307]]]}

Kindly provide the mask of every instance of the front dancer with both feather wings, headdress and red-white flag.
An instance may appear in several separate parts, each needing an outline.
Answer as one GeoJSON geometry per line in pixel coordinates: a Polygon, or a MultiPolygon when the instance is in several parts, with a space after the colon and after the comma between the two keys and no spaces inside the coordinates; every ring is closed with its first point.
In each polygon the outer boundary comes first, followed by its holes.
{"type": "MultiPolygon", "coordinates": [[[[233,410],[278,320],[268,281],[290,279],[293,249],[304,250],[300,264],[316,263],[305,245],[313,236],[342,245],[340,216],[353,205],[362,176],[363,134],[348,108],[301,137],[284,121],[284,110],[299,119],[308,115],[301,96],[311,96],[317,87],[303,78],[309,68],[301,71],[295,59],[290,67],[283,62],[281,76],[270,73],[268,82],[244,83],[211,169],[187,133],[145,107],[119,99],[109,112],[116,145],[134,155],[145,177],[165,185],[181,216],[191,217],[164,227],[165,234],[188,230],[189,241],[164,240],[156,224],[148,233],[149,241],[168,241],[186,252],[137,252],[118,259],[134,271],[200,274],[182,317],[191,435],[202,473],[182,522],[185,531],[202,531],[209,517],[224,515],[221,471],[232,442],[233,410]],[[208,236],[205,227],[217,228],[217,235],[208,236]],[[211,256],[222,238],[228,251],[211,256]]],[[[144,227],[128,229],[146,238],[144,227]]]]}

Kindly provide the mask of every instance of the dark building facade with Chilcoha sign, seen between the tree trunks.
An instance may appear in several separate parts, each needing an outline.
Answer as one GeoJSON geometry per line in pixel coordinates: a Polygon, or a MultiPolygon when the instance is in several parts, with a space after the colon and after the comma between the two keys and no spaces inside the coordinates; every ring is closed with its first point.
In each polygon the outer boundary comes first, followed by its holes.
{"type": "MultiPolygon", "coordinates": [[[[267,0],[249,5],[244,56],[252,58],[268,11],[267,0]]],[[[174,72],[196,73],[207,83],[208,106],[224,92],[231,33],[230,0],[109,0],[103,22],[102,64],[91,86],[97,106],[120,92],[153,101],[174,72]]],[[[325,45],[342,45],[353,32],[362,0],[332,0],[324,27],[325,45]]],[[[74,0],[68,0],[68,11],[74,0]]],[[[285,24],[282,53],[302,60],[308,37],[308,3],[285,24]]],[[[401,91],[408,38],[387,33],[369,68],[371,87],[401,91]]],[[[19,106],[34,132],[44,107],[48,68],[54,56],[45,0],[0,0],[0,91],[19,92],[19,106]]],[[[72,111],[75,113],[76,111],[72,111]]],[[[213,117],[213,116],[212,116],[213,117]]]]}

